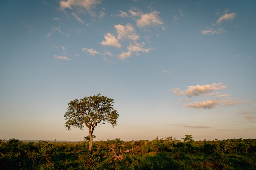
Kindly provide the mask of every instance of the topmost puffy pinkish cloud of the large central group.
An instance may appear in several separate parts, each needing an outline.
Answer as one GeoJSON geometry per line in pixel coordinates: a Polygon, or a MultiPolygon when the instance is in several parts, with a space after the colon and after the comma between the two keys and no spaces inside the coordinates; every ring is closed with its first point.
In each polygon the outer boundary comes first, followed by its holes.
{"type": "Polygon", "coordinates": [[[159,17],[160,12],[158,11],[153,11],[149,14],[143,14],[141,10],[132,8],[128,12],[131,13],[132,17],[139,17],[139,19],[135,18],[137,26],[139,28],[164,24],[164,22],[159,17]]]}

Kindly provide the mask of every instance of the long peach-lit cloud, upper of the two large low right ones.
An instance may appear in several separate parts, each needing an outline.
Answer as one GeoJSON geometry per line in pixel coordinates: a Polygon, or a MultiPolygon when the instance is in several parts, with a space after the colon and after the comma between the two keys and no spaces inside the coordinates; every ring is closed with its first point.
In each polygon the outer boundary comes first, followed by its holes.
{"type": "Polygon", "coordinates": [[[219,90],[219,89],[224,89],[227,86],[222,86],[222,83],[212,83],[212,84],[205,84],[205,85],[196,85],[196,86],[188,86],[188,89],[186,90],[186,93],[183,91],[180,91],[179,88],[175,88],[172,89],[173,92],[178,95],[178,96],[182,96],[182,95],[187,95],[188,97],[191,96],[199,96],[205,93],[209,93],[212,92],[213,90],[219,90]]]}

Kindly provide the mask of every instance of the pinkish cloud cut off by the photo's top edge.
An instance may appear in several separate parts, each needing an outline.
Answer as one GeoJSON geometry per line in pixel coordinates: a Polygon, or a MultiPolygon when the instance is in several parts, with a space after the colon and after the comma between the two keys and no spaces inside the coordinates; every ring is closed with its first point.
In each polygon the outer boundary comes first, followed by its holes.
{"type": "Polygon", "coordinates": [[[91,10],[98,4],[100,4],[100,1],[97,0],[68,0],[60,1],[60,8],[65,10],[66,8],[72,9],[72,7],[82,7],[86,9],[90,15],[94,16],[95,14],[91,10]]]}

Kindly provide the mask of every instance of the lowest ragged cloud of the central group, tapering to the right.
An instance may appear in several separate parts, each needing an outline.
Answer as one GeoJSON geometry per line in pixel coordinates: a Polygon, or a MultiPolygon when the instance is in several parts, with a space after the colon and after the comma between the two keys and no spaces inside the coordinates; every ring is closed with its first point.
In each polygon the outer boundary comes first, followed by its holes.
{"type": "Polygon", "coordinates": [[[126,59],[128,57],[131,57],[131,55],[133,53],[135,53],[136,55],[139,55],[138,52],[149,53],[149,51],[151,49],[154,49],[154,48],[148,48],[148,49],[143,48],[144,45],[145,45],[145,43],[143,43],[143,42],[141,44],[137,43],[137,42],[134,42],[134,43],[130,42],[129,46],[126,47],[128,49],[128,51],[127,52],[123,51],[121,54],[118,55],[118,58],[120,60],[124,60],[124,59],[126,59]]]}

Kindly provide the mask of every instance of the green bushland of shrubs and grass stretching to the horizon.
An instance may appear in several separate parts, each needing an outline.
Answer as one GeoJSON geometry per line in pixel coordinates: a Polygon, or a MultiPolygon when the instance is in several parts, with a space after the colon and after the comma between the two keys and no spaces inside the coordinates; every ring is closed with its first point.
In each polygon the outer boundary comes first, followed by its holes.
{"type": "Polygon", "coordinates": [[[256,139],[183,141],[155,138],[124,142],[0,140],[0,169],[256,169],[256,139]]]}

